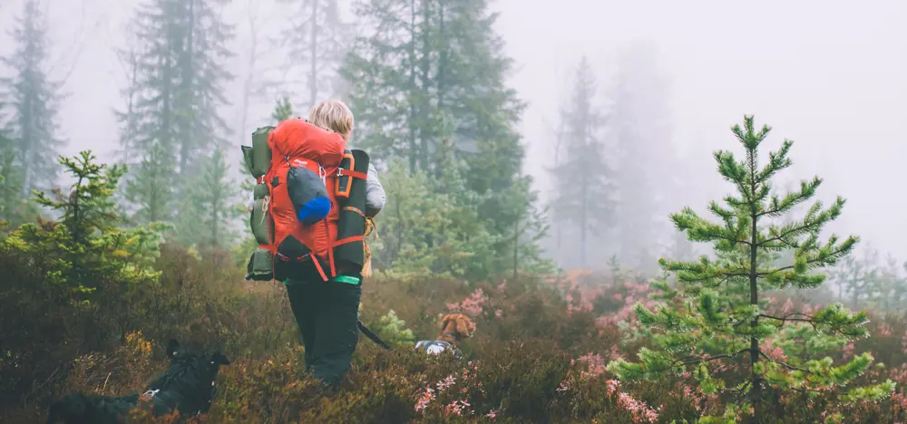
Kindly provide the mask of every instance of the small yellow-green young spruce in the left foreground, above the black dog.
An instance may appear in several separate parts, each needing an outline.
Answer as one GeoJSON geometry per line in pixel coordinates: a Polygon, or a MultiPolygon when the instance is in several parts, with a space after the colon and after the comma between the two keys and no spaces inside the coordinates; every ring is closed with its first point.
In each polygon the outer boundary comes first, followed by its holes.
{"type": "MultiPolygon", "coordinates": [[[[150,284],[162,226],[122,229],[113,198],[125,167],[99,164],[91,151],[59,158],[73,181],[68,188],[38,191],[34,202],[57,221],[27,222],[3,241],[6,252],[34,267],[52,296],[86,303],[99,286],[150,284]],[[38,258],[38,260],[35,260],[38,258]],[[73,296],[74,294],[74,296],[73,296]]],[[[51,299],[53,300],[53,299],[51,299]]]]}

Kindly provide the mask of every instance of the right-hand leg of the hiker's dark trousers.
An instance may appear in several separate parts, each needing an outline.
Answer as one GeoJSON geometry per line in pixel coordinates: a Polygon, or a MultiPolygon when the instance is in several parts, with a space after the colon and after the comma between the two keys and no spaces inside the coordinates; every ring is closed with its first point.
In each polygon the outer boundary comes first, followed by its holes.
{"type": "Polygon", "coordinates": [[[359,342],[360,284],[324,283],[315,331],[315,377],[329,385],[340,382],[359,342]]]}

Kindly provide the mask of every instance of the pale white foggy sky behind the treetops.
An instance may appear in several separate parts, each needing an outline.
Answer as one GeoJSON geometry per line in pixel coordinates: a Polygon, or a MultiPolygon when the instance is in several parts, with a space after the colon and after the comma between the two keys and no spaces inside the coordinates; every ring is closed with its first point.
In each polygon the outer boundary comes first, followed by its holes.
{"type": "MultiPolygon", "coordinates": [[[[0,25],[13,22],[20,3],[0,5],[0,25]]],[[[124,43],[134,3],[44,1],[50,72],[64,82],[67,95],[60,111],[66,154],[94,149],[108,158],[116,147],[112,108],[122,107],[124,72],[113,49],[124,43]]],[[[258,24],[284,19],[281,6],[270,3],[258,4],[258,24]]],[[[239,39],[230,68],[237,77],[230,83],[234,107],[225,116],[238,134],[262,123],[274,101],[255,99],[246,128],[239,128],[249,4],[228,6],[239,39]]],[[[817,174],[825,179],[820,198],[848,199],[835,232],[862,236],[907,259],[901,243],[907,234],[907,198],[901,196],[907,140],[899,125],[907,117],[907,3],[497,0],[493,7],[501,12],[497,31],[515,61],[512,87],[529,103],[521,125],[525,170],[542,196],[550,189],[544,167],[550,165],[558,107],[580,56],[590,58],[600,86],[606,86],[621,48],[650,43],[670,89],[672,136],[664,142],[682,155],[678,178],[688,190],[668,199],[668,209],[698,209],[730,189],[715,172],[711,152],[739,151],[729,127],[745,113],[755,114],[759,125],[774,128],[773,149],[784,138],[795,141],[795,165],[786,177],[817,174]]],[[[0,52],[12,48],[9,37],[0,37],[0,52]]],[[[301,101],[294,105],[297,111],[307,108],[301,101]]],[[[232,138],[236,145],[241,139],[232,138]]],[[[234,150],[230,154],[238,157],[234,150]]]]}

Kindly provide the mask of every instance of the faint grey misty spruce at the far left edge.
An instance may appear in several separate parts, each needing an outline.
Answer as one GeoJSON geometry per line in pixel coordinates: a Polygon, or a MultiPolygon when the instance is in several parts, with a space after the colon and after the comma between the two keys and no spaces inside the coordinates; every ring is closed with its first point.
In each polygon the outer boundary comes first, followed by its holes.
{"type": "Polygon", "coordinates": [[[4,58],[4,63],[15,70],[7,97],[12,109],[15,162],[26,198],[32,189],[54,187],[60,169],[56,155],[64,145],[56,135],[59,83],[50,81],[45,70],[46,32],[38,2],[26,0],[12,33],[15,52],[4,58]]]}

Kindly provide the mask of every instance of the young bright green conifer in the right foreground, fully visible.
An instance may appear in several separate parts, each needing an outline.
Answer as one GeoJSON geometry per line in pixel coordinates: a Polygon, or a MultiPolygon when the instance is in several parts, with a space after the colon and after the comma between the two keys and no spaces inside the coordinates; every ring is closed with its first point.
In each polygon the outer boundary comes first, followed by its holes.
{"type": "Polygon", "coordinates": [[[639,323],[660,330],[654,337],[658,349],[640,350],[637,363],[612,361],[609,371],[624,380],[656,380],[665,373],[690,371],[703,391],[727,396],[729,410],[752,408],[751,419],[756,422],[765,422],[766,403],[785,390],[810,395],[828,390],[841,394],[843,400],[889,395],[894,389],[891,381],[842,388],[869,368],[871,354],[856,355],[851,361],[824,356],[851,338],[867,334],[865,313],[852,314],[840,304],[811,314],[766,312],[767,291],[820,286],[825,276],[814,271],[848,255],[858,238],[841,240],[832,235],[825,242],[819,240],[824,226],[841,215],[844,198],[836,198],[828,208],[816,200],[805,216],[783,219],[795,206],[814,197],[822,179],[802,181],[799,190],[784,197],[770,195],[775,175],[791,166],[787,155],[793,141],[785,140],[761,165],[759,147],[770,128],[756,130],[753,117],[746,116],[743,128],[735,125],[732,130],[746,157],[738,161],[726,150],[714,155],[718,173],[737,192],[724,198],[725,206],[709,205],[720,221],[708,221],[688,207],[671,215],[674,225],[691,241],[712,243],[717,259],[659,261],[665,271],[676,274],[678,287],[658,284],[668,303],[651,311],[637,304],[635,310],[639,323]],[[787,223],[779,223],[782,221],[787,223]],[[772,260],[785,251],[793,252],[793,265],[777,265],[772,260]],[[770,355],[766,342],[782,347],[786,359],[770,355]],[[718,373],[719,366],[742,368],[728,374],[718,373]]]}

